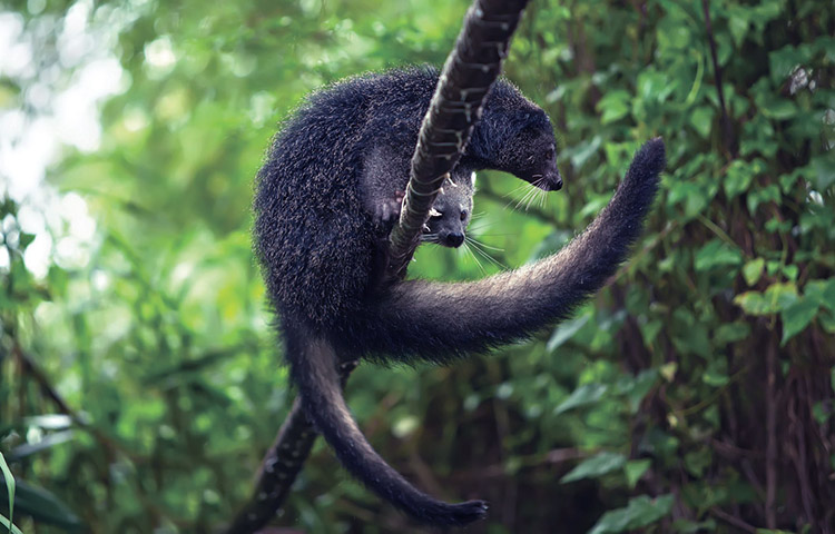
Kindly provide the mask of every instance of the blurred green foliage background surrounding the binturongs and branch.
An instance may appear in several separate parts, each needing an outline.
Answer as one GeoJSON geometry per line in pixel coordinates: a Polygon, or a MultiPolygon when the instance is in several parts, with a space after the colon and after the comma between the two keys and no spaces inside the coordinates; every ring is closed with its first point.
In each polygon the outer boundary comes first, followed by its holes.
{"type": "MultiPolygon", "coordinates": [[[[0,162],[0,452],[24,532],[232,517],[292,402],[249,241],[268,140],[324,83],[441,63],[465,9],[0,2],[0,148],[13,121],[47,145],[39,120],[97,95],[46,181],[0,162]]],[[[507,76],[552,117],[567,186],[527,205],[483,172],[473,235],[504,266],[554,250],[662,136],[649,229],[530,343],[361,366],[366,435],[432,494],[489,500],[470,532],[835,532],[833,3],[534,0],[523,20],[507,76]]],[[[424,247],[411,273],[497,268],[424,247]]],[[[276,524],[421,532],[321,443],[276,524]]]]}

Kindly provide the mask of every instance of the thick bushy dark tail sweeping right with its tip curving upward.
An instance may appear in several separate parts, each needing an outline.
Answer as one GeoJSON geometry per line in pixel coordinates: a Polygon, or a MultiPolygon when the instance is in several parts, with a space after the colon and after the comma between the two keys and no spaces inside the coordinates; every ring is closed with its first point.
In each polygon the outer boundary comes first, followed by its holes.
{"type": "Polygon", "coordinates": [[[405,281],[355,320],[360,352],[443,363],[514,342],[567,318],[600,289],[638,239],[666,165],[658,138],[636,152],[606,208],[559,253],[471,283],[405,281]]]}

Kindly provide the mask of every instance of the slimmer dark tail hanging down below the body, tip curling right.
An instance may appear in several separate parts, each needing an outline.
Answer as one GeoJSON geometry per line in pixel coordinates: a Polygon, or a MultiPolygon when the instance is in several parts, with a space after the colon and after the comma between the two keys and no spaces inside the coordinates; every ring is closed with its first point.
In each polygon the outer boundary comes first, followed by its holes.
{"type": "Polygon", "coordinates": [[[412,486],[365,439],[345,405],[331,344],[313,334],[284,329],[302,406],[342,464],[363,484],[421,523],[463,526],[484,517],[487,504],[448,504],[412,486]]]}

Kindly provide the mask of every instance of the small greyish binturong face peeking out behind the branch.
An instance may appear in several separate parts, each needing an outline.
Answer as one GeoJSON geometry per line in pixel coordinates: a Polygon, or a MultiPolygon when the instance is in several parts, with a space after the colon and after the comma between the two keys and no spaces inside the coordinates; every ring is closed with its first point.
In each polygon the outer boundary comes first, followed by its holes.
{"type": "Polygon", "coordinates": [[[464,244],[466,225],[472,217],[472,196],[475,190],[475,172],[454,175],[444,180],[438,194],[429,221],[423,227],[421,240],[444,247],[458,248],[464,244]]]}

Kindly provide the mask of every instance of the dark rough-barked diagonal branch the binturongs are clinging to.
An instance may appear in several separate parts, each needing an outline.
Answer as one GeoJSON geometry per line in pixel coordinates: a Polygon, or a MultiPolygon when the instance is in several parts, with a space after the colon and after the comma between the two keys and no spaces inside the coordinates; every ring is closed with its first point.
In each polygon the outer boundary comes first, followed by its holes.
{"type": "MultiPolygon", "coordinates": [[[[468,10],[421,126],[401,220],[391,235],[390,261],[383,275],[387,281],[405,277],[432,202],[481,117],[484,98],[501,72],[510,38],[527,3],[528,0],[474,0],[468,10]]],[[[343,387],[355,366],[352,362],[341,367],[343,387]]],[[[252,497],[226,534],[248,534],[267,524],[289,493],[316,435],[296,398],[264,457],[252,497]]]]}

